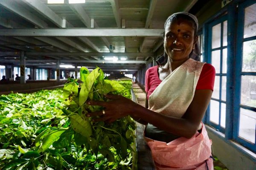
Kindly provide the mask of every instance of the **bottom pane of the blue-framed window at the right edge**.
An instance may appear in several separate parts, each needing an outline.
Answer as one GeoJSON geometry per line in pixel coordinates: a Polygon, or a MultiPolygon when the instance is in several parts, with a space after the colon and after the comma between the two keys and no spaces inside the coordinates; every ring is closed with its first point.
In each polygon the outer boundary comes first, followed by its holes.
{"type": "Polygon", "coordinates": [[[239,137],[255,143],[256,113],[240,108],[239,137]]]}

